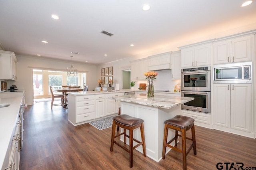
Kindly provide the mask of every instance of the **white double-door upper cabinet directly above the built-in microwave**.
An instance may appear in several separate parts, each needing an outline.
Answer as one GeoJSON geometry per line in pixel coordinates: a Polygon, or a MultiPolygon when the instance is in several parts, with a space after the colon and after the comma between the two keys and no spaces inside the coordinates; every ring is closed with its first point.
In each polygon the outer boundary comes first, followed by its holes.
{"type": "Polygon", "coordinates": [[[253,43],[253,35],[214,42],[214,64],[252,61],[253,43]]]}

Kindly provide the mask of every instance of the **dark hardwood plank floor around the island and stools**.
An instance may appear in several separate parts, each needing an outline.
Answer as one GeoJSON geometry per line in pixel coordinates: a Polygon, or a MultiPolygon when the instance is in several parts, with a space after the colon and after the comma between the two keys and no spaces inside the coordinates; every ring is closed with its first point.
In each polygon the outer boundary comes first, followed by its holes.
{"type": "MultiPolygon", "coordinates": [[[[191,136],[191,131],[187,132],[191,136]]],[[[126,170],[129,154],[114,145],[110,152],[111,128],[98,130],[86,123],[74,127],[68,122],[68,109],[50,102],[35,103],[24,113],[24,147],[21,170],[126,170]]],[[[178,144],[179,146],[180,143],[178,144]]],[[[232,162],[256,167],[256,140],[196,126],[197,155],[187,156],[188,170],[223,169],[232,162]],[[224,164],[224,162],[228,162],[224,164]],[[220,169],[220,168],[219,168],[220,169]]],[[[234,164],[238,169],[238,164],[234,164]]],[[[159,163],[134,150],[133,169],[182,169],[182,154],[170,151],[159,163]]]]}

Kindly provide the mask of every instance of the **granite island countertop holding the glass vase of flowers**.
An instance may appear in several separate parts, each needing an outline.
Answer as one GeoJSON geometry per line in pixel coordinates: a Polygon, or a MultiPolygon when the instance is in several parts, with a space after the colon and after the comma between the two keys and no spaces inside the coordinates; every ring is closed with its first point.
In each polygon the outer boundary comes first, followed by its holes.
{"type": "Polygon", "coordinates": [[[171,109],[188,101],[194,100],[194,97],[166,97],[164,95],[155,95],[154,98],[148,98],[146,94],[114,96],[110,98],[164,109],[171,109]]]}

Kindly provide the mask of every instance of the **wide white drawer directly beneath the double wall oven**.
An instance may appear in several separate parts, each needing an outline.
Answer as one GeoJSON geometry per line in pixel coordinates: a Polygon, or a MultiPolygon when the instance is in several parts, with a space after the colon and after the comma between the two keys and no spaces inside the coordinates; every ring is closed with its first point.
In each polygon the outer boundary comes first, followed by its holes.
{"type": "Polygon", "coordinates": [[[195,119],[195,122],[206,123],[210,125],[210,115],[206,113],[193,113],[190,111],[182,110],[184,116],[195,119]]]}

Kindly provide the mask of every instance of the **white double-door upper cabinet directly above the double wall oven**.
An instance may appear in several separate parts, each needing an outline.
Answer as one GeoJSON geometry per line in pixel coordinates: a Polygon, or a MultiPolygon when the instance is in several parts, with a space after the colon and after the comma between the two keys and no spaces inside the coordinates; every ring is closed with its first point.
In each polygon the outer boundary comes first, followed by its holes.
{"type": "Polygon", "coordinates": [[[181,68],[211,65],[212,42],[195,43],[179,47],[181,50],[181,68]]]}

